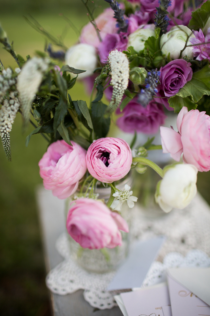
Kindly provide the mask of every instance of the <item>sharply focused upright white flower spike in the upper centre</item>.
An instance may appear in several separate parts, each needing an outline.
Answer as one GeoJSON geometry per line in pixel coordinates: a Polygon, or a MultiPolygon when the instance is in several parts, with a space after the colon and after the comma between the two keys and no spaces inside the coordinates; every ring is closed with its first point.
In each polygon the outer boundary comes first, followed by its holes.
{"type": "Polygon", "coordinates": [[[108,63],[111,68],[110,83],[113,86],[113,92],[107,112],[111,113],[119,106],[123,93],[128,87],[129,62],[124,53],[114,50],[109,53],[108,63]]]}

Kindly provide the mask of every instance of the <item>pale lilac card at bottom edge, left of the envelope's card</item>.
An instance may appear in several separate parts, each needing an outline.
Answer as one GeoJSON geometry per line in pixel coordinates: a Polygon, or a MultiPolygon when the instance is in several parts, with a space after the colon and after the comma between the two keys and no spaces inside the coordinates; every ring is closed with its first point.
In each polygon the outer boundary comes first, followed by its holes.
{"type": "Polygon", "coordinates": [[[128,316],[172,316],[168,288],[165,283],[121,293],[120,296],[128,316]]]}

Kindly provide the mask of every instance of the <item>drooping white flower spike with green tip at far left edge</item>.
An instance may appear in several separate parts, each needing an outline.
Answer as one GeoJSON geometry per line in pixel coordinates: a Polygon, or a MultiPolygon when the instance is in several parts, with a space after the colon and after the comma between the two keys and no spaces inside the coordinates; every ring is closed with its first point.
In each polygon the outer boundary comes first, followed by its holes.
{"type": "Polygon", "coordinates": [[[11,161],[10,151],[10,131],[12,130],[12,124],[20,107],[20,102],[17,98],[17,92],[11,91],[9,94],[9,100],[5,99],[0,110],[0,135],[2,139],[3,149],[7,156],[7,159],[11,161]]]}

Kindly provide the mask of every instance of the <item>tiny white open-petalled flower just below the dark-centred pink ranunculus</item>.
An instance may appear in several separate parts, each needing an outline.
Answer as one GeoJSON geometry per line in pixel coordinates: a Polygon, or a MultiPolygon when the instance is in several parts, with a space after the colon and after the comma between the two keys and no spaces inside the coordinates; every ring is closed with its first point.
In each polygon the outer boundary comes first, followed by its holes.
{"type": "Polygon", "coordinates": [[[133,208],[134,202],[137,201],[138,197],[132,196],[133,191],[130,191],[130,189],[131,189],[130,186],[126,184],[123,191],[116,191],[114,194],[112,194],[112,196],[116,198],[111,204],[112,209],[115,209],[116,211],[120,211],[122,208],[122,204],[125,201],[127,201],[128,207],[130,209],[133,208]]]}

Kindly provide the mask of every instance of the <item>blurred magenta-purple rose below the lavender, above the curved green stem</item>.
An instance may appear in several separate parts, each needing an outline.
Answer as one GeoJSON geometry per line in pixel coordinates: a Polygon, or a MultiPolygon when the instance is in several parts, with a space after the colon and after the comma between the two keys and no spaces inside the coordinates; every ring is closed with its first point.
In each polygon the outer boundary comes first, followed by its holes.
{"type": "MultiPolygon", "coordinates": [[[[120,110],[117,109],[116,113],[120,114],[120,110]]],[[[116,124],[122,131],[128,133],[137,131],[145,134],[155,134],[160,125],[164,124],[166,118],[161,104],[152,100],[144,107],[139,104],[137,97],[127,104],[122,114],[117,119],[116,124]]]]}

